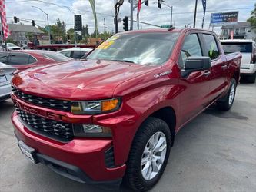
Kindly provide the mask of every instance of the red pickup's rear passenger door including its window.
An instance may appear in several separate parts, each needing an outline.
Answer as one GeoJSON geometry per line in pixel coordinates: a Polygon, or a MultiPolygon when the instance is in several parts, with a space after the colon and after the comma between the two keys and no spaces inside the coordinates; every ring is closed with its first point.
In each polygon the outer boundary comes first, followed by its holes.
{"type": "Polygon", "coordinates": [[[202,40],[204,41],[204,56],[211,58],[211,78],[210,95],[211,101],[218,98],[224,91],[224,88],[228,86],[227,72],[228,61],[221,55],[221,49],[219,48],[217,37],[213,34],[202,34],[202,40]]]}

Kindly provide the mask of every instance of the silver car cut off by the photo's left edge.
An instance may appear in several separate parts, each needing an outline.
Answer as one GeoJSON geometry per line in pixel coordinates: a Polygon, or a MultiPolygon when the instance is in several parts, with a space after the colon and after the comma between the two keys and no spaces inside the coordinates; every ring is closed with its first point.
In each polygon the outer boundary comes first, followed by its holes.
{"type": "Polygon", "coordinates": [[[5,101],[10,98],[12,91],[11,81],[13,72],[16,69],[10,65],[5,65],[0,62],[0,101],[5,101]]]}

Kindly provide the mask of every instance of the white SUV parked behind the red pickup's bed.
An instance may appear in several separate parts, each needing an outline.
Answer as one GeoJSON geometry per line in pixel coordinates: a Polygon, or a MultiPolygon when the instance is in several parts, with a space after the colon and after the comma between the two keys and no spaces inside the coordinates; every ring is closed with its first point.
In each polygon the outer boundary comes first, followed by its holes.
{"type": "Polygon", "coordinates": [[[241,78],[247,76],[248,82],[254,83],[256,77],[256,44],[249,39],[221,40],[225,54],[241,52],[241,78]]]}

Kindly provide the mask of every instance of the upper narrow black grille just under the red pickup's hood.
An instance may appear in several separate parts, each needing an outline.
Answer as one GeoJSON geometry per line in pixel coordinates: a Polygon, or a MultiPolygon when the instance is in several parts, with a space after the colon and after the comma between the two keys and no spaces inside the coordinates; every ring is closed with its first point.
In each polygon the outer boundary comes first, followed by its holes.
{"type": "Polygon", "coordinates": [[[37,97],[32,94],[25,94],[22,91],[18,90],[18,88],[15,88],[12,86],[12,92],[15,94],[18,98],[22,99],[23,101],[26,101],[30,104],[35,104],[38,106],[42,106],[45,108],[51,108],[59,111],[71,111],[71,101],[62,101],[57,99],[50,99],[50,98],[42,98],[37,97]]]}

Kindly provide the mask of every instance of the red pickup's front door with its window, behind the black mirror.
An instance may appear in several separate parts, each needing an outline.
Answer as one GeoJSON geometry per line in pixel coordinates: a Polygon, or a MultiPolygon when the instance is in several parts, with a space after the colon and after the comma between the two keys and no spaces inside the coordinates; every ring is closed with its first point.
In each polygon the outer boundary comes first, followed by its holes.
{"type": "MultiPolygon", "coordinates": [[[[203,56],[201,41],[199,41],[196,33],[187,35],[181,46],[178,61],[181,71],[185,70],[185,61],[191,56],[203,56]]],[[[180,94],[179,111],[181,121],[179,125],[198,114],[208,104],[210,80],[209,71],[207,70],[194,71],[188,76],[181,77],[179,84],[184,90],[180,94]]]]}

